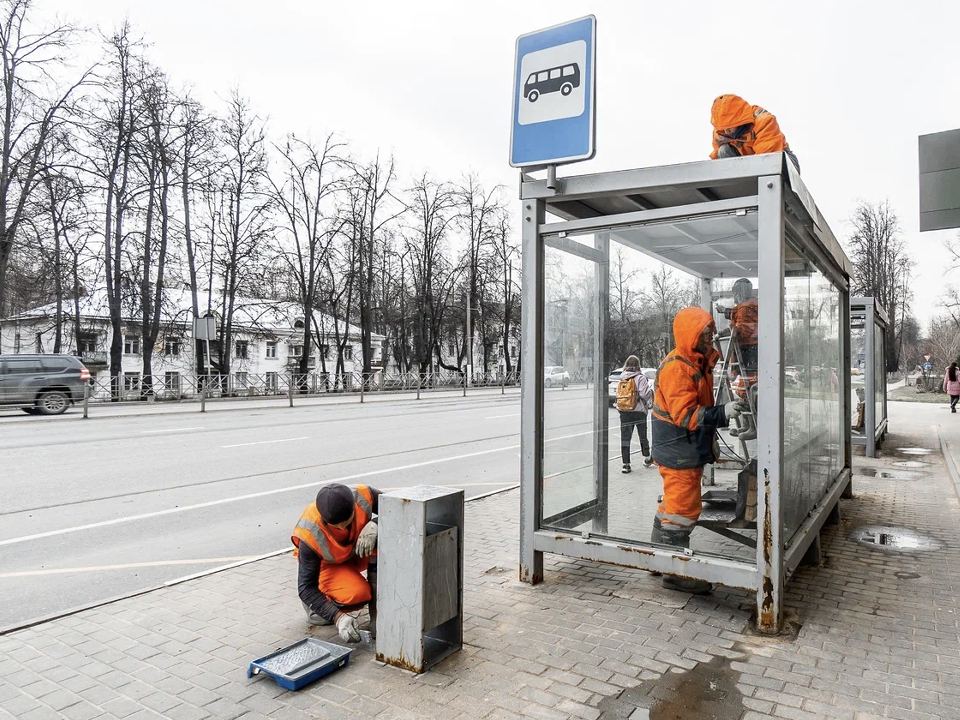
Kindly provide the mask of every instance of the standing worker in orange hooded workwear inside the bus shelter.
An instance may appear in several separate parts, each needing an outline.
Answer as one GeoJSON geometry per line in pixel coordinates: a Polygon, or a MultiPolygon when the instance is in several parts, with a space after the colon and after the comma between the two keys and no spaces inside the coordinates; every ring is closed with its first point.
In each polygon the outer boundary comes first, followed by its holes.
{"type": "MultiPolygon", "coordinates": [[[[742,412],[737,401],[714,407],[713,368],[720,358],[714,345],[716,324],[698,307],[684,308],[673,319],[676,347],[657,370],[653,396],[653,459],[663,478],[663,500],[653,521],[651,541],[690,547],[690,533],[700,517],[703,466],[716,459],[718,427],[742,412]]],[[[666,575],[665,587],[707,593],[703,580],[666,575]]]]}

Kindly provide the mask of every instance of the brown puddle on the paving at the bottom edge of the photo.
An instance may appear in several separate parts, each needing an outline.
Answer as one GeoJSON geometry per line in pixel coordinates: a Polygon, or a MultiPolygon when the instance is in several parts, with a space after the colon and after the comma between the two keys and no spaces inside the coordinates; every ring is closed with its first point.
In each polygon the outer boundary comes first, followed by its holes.
{"type": "Polygon", "coordinates": [[[740,673],[715,657],[686,672],[668,672],[600,701],[600,720],[729,720],[745,708],[740,673]]]}

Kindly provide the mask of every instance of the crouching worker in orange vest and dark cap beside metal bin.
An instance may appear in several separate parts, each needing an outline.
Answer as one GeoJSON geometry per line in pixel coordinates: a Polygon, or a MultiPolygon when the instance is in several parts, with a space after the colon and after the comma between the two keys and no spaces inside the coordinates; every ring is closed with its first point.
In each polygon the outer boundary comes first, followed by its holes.
{"type": "Polygon", "coordinates": [[[377,513],[380,491],[366,485],[324,485],[304,508],[290,540],[296,546],[297,591],[312,625],[336,624],[340,638],[358,642],[350,613],[369,606],[376,626],[377,513]],[[367,577],[363,576],[366,571],[367,577]]]}

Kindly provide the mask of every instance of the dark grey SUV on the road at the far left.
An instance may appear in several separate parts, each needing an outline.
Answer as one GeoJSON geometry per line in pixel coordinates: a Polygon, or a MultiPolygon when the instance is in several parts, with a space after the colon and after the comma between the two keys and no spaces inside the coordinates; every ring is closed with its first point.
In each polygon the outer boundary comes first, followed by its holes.
{"type": "Polygon", "coordinates": [[[0,406],[59,415],[83,400],[90,371],[72,355],[0,355],[0,406]]]}

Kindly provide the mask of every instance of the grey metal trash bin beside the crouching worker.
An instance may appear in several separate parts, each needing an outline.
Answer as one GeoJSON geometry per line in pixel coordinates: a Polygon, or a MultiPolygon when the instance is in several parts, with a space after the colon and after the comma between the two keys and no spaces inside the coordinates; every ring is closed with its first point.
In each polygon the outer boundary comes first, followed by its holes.
{"type": "Polygon", "coordinates": [[[463,490],[380,495],[377,660],[423,672],[463,646],[463,490]]]}

